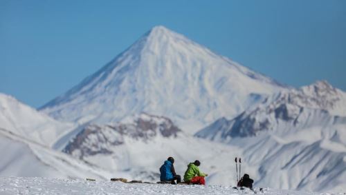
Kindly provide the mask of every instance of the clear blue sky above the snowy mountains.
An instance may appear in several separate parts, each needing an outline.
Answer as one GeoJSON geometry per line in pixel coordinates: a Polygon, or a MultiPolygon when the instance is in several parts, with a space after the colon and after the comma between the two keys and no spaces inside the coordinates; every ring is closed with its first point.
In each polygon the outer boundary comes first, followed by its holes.
{"type": "Polygon", "coordinates": [[[155,25],[280,83],[346,90],[343,0],[0,0],[0,92],[44,105],[155,25]]]}

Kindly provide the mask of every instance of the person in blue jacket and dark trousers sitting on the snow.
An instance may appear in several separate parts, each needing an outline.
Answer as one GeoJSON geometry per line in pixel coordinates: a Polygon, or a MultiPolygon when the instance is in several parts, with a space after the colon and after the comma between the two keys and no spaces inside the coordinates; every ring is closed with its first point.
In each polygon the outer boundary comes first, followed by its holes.
{"type": "Polygon", "coordinates": [[[174,158],[169,157],[160,167],[160,180],[171,181],[172,184],[181,183],[181,176],[177,175],[174,170],[174,158]],[[176,183],[175,183],[176,180],[176,183]]]}

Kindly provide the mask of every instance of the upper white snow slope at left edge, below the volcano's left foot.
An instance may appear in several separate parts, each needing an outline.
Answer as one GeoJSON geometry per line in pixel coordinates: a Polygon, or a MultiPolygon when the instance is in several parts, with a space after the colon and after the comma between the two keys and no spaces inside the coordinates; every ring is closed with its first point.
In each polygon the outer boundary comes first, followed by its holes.
{"type": "Polygon", "coordinates": [[[75,128],[24,105],[12,96],[0,93],[0,127],[44,145],[52,145],[75,128]]]}

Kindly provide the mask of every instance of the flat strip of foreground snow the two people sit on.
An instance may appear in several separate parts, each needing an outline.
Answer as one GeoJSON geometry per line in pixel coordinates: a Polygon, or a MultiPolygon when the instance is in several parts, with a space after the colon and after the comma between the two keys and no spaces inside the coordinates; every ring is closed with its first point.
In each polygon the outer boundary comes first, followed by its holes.
{"type": "MultiPolygon", "coordinates": [[[[264,188],[257,194],[325,194],[264,188]]],[[[0,177],[0,194],[255,194],[221,185],[163,185],[82,179],[0,177]]]]}

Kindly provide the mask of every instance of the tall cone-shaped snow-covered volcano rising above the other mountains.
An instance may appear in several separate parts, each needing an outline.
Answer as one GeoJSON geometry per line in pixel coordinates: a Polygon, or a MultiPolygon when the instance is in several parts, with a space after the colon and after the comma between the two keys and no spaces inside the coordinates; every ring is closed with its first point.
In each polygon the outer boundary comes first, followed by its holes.
{"type": "Polygon", "coordinates": [[[109,123],[146,112],[195,131],[285,88],[156,26],[103,68],[40,108],[60,121],[109,123]]]}

